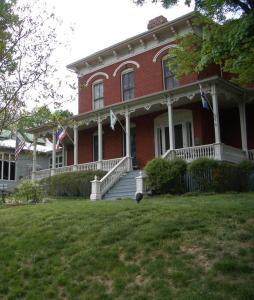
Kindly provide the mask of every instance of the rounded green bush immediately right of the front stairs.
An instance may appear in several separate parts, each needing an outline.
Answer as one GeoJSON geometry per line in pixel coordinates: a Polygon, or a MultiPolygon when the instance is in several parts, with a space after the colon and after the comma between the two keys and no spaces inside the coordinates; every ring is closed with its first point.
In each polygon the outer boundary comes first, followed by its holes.
{"type": "Polygon", "coordinates": [[[165,160],[155,158],[147,163],[145,172],[147,185],[155,193],[181,192],[182,175],[186,171],[186,162],[181,159],[165,160]]]}

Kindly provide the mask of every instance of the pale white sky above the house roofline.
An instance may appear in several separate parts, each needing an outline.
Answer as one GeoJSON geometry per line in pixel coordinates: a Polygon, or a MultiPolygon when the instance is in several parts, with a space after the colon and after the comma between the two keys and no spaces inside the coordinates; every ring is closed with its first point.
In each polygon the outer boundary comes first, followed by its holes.
{"type": "MultiPolygon", "coordinates": [[[[52,61],[58,61],[60,77],[68,75],[70,80],[76,82],[76,75],[71,74],[66,65],[146,31],[148,21],[159,15],[173,20],[192,10],[184,5],[184,1],[170,9],[164,9],[160,3],[153,4],[150,0],[143,6],[135,5],[132,0],[45,1],[48,9],[62,20],[58,30],[59,40],[69,44],[68,47],[58,47],[52,61]]],[[[69,93],[77,99],[76,93],[66,87],[67,97],[69,93]]],[[[64,104],[62,108],[77,114],[77,100],[64,104]]]]}

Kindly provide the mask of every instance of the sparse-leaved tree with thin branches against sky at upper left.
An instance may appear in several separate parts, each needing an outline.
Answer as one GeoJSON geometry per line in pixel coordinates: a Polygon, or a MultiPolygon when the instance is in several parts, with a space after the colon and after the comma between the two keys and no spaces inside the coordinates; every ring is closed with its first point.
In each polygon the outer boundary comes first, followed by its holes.
{"type": "Polygon", "coordinates": [[[32,103],[57,105],[62,99],[54,88],[56,68],[50,62],[60,45],[58,24],[54,14],[49,14],[39,1],[19,4],[16,0],[1,0],[0,132],[27,114],[32,103]]]}

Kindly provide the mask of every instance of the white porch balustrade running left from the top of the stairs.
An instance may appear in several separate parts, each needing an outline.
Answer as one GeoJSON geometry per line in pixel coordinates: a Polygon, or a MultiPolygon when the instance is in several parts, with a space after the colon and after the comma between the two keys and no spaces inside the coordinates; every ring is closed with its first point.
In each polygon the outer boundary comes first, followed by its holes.
{"type": "Polygon", "coordinates": [[[89,162],[79,165],[71,165],[71,166],[65,166],[60,167],[56,169],[45,169],[36,171],[33,174],[33,178],[35,180],[40,180],[45,177],[49,177],[51,175],[61,174],[61,173],[68,173],[68,172],[74,172],[74,171],[95,171],[95,170],[103,170],[103,171],[109,171],[111,170],[115,165],[117,165],[122,158],[115,158],[115,159],[109,159],[109,160],[102,160],[102,161],[96,161],[96,162],[89,162]]]}

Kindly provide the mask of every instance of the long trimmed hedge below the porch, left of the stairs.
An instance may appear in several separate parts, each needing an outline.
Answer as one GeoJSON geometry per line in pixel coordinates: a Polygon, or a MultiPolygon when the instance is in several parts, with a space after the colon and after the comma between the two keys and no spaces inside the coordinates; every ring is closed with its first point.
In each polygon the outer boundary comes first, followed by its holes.
{"type": "Polygon", "coordinates": [[[49,196],[73,196],[89,198],[91,194],[91,180],[94,176],[102,178],[104,171],[79,171],[62,173],[44,178],[40,181],[45,193],[49,196]]]}

